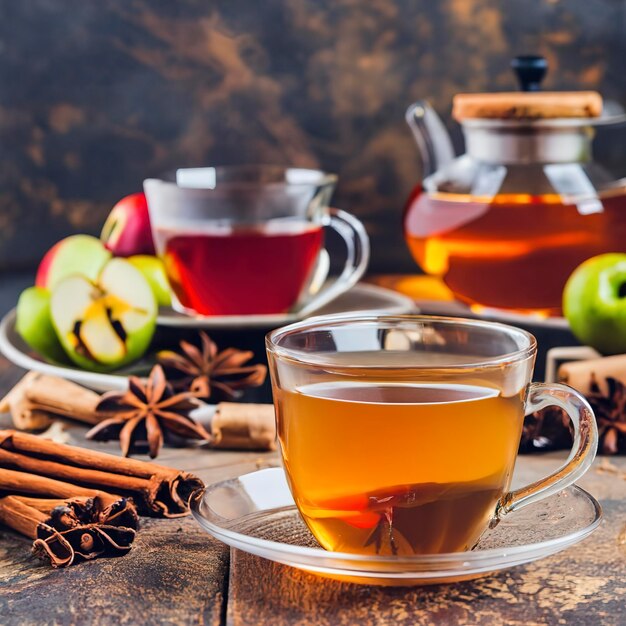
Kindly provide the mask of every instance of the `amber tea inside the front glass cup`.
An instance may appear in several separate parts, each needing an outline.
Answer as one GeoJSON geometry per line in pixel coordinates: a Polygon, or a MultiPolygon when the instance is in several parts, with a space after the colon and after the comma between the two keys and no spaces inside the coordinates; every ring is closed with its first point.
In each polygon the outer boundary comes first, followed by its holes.
{"type": "Polygon", "coordinates": [[[294,499],[328,550],[471,549],[508,489],[521,394],[350,382],[279,391],[276,398],[294,499]]]}

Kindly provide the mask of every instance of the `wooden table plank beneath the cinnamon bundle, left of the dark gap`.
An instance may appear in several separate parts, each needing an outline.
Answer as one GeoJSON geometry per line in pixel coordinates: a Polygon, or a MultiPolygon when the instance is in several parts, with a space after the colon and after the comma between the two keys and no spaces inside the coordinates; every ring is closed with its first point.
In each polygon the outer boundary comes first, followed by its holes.
{"type": "Polygon", "coordinates": [[[20,624],[222,623],[228,551],[191,518],[142,520],[133,549],[52,570],[0,532],[0,615],[20,624]]]}

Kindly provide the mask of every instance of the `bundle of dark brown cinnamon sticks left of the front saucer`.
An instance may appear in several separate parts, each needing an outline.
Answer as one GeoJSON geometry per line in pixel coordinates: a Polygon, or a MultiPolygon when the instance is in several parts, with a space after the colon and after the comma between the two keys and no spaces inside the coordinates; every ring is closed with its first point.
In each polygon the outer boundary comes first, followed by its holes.
{"type": "Polygon", "coordinates": [[[130,550],[138,513],[179,517],[202,481],[186,472],[0,431],[0,522],[65,567],[130,550]]]}

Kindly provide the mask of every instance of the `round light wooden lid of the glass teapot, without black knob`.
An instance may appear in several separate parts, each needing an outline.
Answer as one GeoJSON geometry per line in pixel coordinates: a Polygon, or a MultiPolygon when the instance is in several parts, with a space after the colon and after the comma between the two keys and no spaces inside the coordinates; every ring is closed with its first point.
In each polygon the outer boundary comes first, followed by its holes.
{"type": "Polygon", "coordinates": [[[460,93],[454,97],[452,107],[452,116],[459,122],[593,118],[601,113],[602,96],[597,91],[460,93]]]}

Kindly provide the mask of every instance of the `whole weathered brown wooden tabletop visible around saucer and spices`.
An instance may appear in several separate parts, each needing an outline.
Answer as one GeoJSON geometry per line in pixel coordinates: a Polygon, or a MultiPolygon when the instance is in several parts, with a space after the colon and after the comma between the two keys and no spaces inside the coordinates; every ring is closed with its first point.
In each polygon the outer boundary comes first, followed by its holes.
{"type": "MultiPolygon", "coordinates": [[[[0,394],[23,372],[0,357],[0,394]]],[[[5,417],[4,424],[8,424],[5,417]]],[[[72,427],[70,443],[85,445],[72,427]]],[[[111,452],[115,443],[90,444],[111,452]]],[[[562,455],[561,455],[562,458],[562,455]]],[[[520,457],[524,478],[559,455],[520,457]]],[[[159,461],[206,482],[272,464],[271,453],[164,449],[159,461]]],[[[340,583],[229,550],[190,517],[142,519],[131,552],[53,570],[0,528],[0,623],[28,624],[626,624],[626,459],[598,459],[580,481],[602,503],[587,540],[475,581],[383,588],[340,583]]]]}

